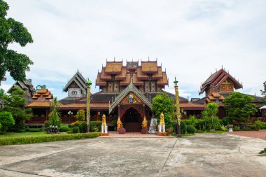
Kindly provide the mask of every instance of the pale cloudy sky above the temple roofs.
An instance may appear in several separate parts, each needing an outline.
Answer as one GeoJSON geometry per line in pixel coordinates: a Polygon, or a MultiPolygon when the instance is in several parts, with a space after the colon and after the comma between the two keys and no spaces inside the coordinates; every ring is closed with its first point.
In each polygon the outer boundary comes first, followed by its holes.
{"type": "MultiPolygon", "coordinates": [[[[266,80],[266,1],[8,0],[8,17],[25,24],[34,43],[10,48],[34,62],[27,78],[63,98],[77,71],[95,81],[106,59],[158,58],[173,92],[198,97],[201,83],[223,66],[260,95],[266,80]]],[[[8,76],[1,87],[13,84],[8,76]]],[[[99,91],[94,87],[93,92],[99,91]]],[[[204,96],[204,95],[201,95],[204,96]]]]}

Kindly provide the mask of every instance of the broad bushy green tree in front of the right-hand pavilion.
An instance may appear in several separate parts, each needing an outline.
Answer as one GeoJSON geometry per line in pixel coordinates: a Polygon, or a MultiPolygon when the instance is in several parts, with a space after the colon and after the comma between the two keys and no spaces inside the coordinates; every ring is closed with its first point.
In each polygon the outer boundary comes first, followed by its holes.
{"type": "Polygon", "coordinates": [[[229,97],[223,100],[225,111],[227,111],[228,116],[238,124],[240,122],[248,122],[248,117],[254,115],[257,111],[255,109],[255,104],[250,103],[253,99],[254,97],[250,95],[232,92],[229,97]]]}

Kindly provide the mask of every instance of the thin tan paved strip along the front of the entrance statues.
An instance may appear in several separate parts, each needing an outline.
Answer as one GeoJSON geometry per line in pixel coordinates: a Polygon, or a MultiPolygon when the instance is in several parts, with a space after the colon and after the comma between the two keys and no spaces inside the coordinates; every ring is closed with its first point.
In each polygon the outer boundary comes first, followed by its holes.
{"type": "Polygon", "coordinates": [[[141,134],[139,132],[127,132],[118,134],[118,132],[109,132],[109,136],[100,136],[103,138],[174,138],[174,136],[157,136],[156,134],[141,134]]]}

